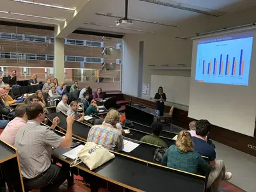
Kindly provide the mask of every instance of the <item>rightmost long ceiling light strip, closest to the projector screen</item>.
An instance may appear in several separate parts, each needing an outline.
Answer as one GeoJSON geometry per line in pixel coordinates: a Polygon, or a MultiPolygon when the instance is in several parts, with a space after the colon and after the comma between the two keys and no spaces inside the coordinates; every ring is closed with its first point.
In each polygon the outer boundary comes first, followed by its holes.
{"type": "Polygon", "coordinates": [[[207,12],[207,11],[204,11],[204,10],[198,10],[196,8],[189,8],[188,6],[182,6],[181,3],[172,4],[172,3],[165,3],[165,2],[161,2],[161,1],[155,1],[155,0],[140,0],[140,1],[145,1],[147,3],[160,4],[160,5],[163,5],[163,6],[170,6],[172,8],[177,8],[177,9],[180,9],[180,10],[186,10],[186,11],[189,11],[189,12],[202,13],[202,14],[211,15],[211,16],[214,16],[214,17],[220,17],[221,16],[220,13],[207,12]]]}

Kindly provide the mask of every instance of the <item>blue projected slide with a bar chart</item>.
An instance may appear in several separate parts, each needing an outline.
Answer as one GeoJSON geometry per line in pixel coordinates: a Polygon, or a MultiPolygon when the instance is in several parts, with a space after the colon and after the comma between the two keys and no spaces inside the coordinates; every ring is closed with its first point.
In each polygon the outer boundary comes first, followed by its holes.
{"type": "Polygon", "coordinates": [[[195,81],[248,86],[253,33],[198,41],[195,81]]]}

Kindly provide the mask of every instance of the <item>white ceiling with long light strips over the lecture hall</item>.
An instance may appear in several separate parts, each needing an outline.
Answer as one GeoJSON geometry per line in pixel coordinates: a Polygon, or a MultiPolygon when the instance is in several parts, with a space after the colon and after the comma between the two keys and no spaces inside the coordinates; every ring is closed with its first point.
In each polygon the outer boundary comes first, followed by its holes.
{"type": "MultiPolygon", "coordinates": [[[[65,6],[68,8],[76,8],[77,6],[79,7],[79,4],[82,1],[84,0],[35,0],[34,2],[54,4],[57,6],[65,6]]],[[[171,0],[161,1],[166,3],[177,3],[177,1],[171,0]]],[[[234,13],[237,11],[244,10],[246,8],[251,8],[252,6],[256,6],[255,0],[179,0],[179,3],[181,3],[182,6],[190,6],[192,8],[198,8],[200,10],[215,10],[223,13],[223,15],[227,15],[229,13],[234,13]]],[[[86,5],[90,6],[88,8],[88,12],[82,13],[84,16],[84,22],[86,22],[87,24],[81,25],[80,28],[95,31],[111,31],[115,33],[156,33],[158,31],[178,30],[176,28],[172,28],[169,26],[160,26],[156,24],[148,24],[136,21],[134,21],[134,24],[131,27],[129,27],[130,29],[123,29],[118,27],[116,28],[115,18],[95,15],[95,13],[97,12],[110,12],[113,13],[113,15],[124,16],[124,4],[125,0],[91,0],[90,3],[86,5]],[[97,26],[95,26],[92,23],[97,24],[97,26]],[[99,24],[103,26],[99,26],[99,24]],[[106,26],[113,26],[113,28],[108,28],[106,26]],[[137,31],[132,29],[137,29],[137,31]]],[[[70,10],[62,10],[58,8],[45,7],[36,4],[20,3],[10,0],[1,0],[0,6],[0,20],[10,20],[13,22],[27,22],[47,26],[61,24],[63,20],[67,19],[68,17],[71,17],[73,14],[74,11],[70,10]],[[14,15],[13,13],[22,13],[26,14],[27,16],[14,15]],[[35,15],[39,17],[31,17],[28,15],[35,15]],[[47,19],[40,17],[49,18],[47,19]]],[[[175,24],[181,26],[180,29],[182,29],[182,26],[189,24],[189,22],[191,22],[191,20],[193,19],[198,20],[212,18],[212,16],[209,15],[189,12],[186,10],[179,10],[176,8],[170,8],[158,4],[146,3],[139,0],[129,0],[128,17],[175,24]]]]}

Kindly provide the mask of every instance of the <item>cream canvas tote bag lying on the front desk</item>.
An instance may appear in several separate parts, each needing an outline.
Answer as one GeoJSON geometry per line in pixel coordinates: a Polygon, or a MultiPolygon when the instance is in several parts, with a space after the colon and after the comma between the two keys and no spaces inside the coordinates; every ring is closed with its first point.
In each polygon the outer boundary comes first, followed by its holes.
{"type": "Polygon", "coordinates": [[[90,170],[94,170],[113,158],[115,158],[115,155],[106,148],[93,142],[87,142],[77,154],[76,160],[70,164],[70,167],[84,163],[90,170]]]}

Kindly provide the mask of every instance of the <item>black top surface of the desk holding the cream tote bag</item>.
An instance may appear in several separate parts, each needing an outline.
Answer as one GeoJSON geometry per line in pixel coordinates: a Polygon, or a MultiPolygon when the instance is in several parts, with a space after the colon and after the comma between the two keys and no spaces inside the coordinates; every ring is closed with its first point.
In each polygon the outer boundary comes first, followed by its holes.
{"type": "MultiPolygon", "coordinates": [[[[65,159],[71,163],[72,159],[62,154],[69,148],[57,148],[53,156],[65,159]]],[[[88,172],[85,164],[80,164],[79,170],[88,172]]],[[[106,179],[115,180],[118,183],[131,186],[143,191],[204,191],[204,178],[193,178],[190,174],[173,172],[168,168],[159,166],[147,166],[147,162],[136,161],[122,156],[116,156],[106,164],[92,170],[106,179]]]]}

